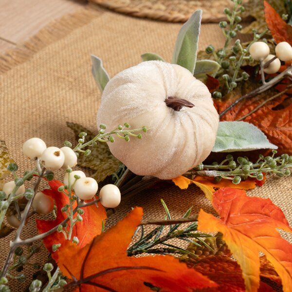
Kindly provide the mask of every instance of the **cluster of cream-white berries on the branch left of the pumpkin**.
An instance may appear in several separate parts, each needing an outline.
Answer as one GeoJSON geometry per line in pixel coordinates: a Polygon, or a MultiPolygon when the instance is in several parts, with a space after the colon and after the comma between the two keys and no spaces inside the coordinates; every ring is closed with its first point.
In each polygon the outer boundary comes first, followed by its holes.
{"type": "MultiPolygon", "coordinates": [[[[77,164],[77,156],[70,147],[47,147],[43,140],[31,138],[23,144],[22,151],[29,159],[38,159],[42,166],[48,170],[66,169],[64,177],[65,187],[68,189],[70,183],[75,195],[80,200],[91,200],[96,195],[98,190],[97,182],[93,178],[86,177],[83,171],[72,171],[71,168],[77,164]]],[[[18,186],[18,189],[14,196],[17,196],[18,199],[23,198],[26,194],[23,182],[18,185],[16,181],[11,181],[4,183],[2,188],[6,199],[8,199],[16,186],[18,186]]],[[[121,201],[121,193],[116,185],[107,184],[101,188],[99,198],[104,207],[115,208],[121,201]]],[[[38,214],[47,214],[53,210],[54,201],[51,197],[38,192],[34,197],[32,207],[38,214]]],[[[20,223],[19,219],[14,215],[7,216],[7,221],[14,227],[18,227],[20,223]]]]}

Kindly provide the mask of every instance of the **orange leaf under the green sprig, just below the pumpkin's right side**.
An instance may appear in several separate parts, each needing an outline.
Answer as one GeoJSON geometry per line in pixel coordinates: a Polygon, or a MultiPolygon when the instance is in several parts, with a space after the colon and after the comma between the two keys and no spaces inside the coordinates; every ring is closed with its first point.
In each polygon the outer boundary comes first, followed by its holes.
{"type": "Polygon", "coordinates": [[[196,184],[198,187],[201,188],[201,190],[206,195],[207,199],[209,199],[210,201],[212,201],[213,193],[215,193],[216,191],[215,188],[232,187],[232,188],[243,189],[243,190],[251,190],[255,188],[257,184],[255,180],[241,181],[238,184],[234,184],[232,183],[231,180],[226,180],[226,179],[222,179],[219,183],[216,183],[214,182],[214,178],[212,177],[201,177],[201,176],[196,176],[193,180],[190,180],[182,175],[177,178],[172,179],[172,181],[175,183],[175,185],[177,185],[181,189],[187,189],[191,183],[196,184]]]}

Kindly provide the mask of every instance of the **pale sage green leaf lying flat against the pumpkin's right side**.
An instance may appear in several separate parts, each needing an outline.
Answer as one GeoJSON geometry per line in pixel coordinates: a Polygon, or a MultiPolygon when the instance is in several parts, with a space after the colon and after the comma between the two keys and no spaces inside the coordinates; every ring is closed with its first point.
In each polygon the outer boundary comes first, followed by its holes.
{"type": "Polygon", "coordinates": [[[256,126],[247,122],[219,122],[213,152],[277,149],[256,126]]]}

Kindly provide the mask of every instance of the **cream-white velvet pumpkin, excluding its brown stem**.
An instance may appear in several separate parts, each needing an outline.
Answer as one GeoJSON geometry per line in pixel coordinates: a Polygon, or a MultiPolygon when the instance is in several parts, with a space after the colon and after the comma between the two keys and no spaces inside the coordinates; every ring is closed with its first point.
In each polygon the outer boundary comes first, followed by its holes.
{"type": "Polygon", "coordinates": [[[111,130],[125,122],[146,126],[142,139],[115,138],[111,153],[137,175],[177,177],[200,164],[211,152],[219,117],[207,87],[185,68],[147,61],[118,73],[107,84],[97,113],[97,125],[111,130]],[[177,111],[167,97],[195,105],[177,111]]]}

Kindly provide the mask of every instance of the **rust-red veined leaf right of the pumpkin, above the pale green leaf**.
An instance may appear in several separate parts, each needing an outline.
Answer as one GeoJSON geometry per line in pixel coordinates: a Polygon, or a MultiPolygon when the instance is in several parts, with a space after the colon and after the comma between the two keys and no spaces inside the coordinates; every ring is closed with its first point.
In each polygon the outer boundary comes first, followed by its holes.
{"type": "MultiPolygon", "coordinates": [[[[214,105],[220,113],[237,98],[238,96],[234,96],[227,101],[214,100],[214,105]]],[[[251,123],[262,130],[269,141],[279,147],[278,152],[280,154],[292,153],[292,103],[287,105],[284,109],[275,110],[286,98],[287,95],[283,94],[267,102],[264,106],[242,119],[242,121],[251,123]]],[[[221,117],[221,121],[237,121],[254,110],[263,101],[263,97],[256,97],[239,102],[221,117]]]]}

